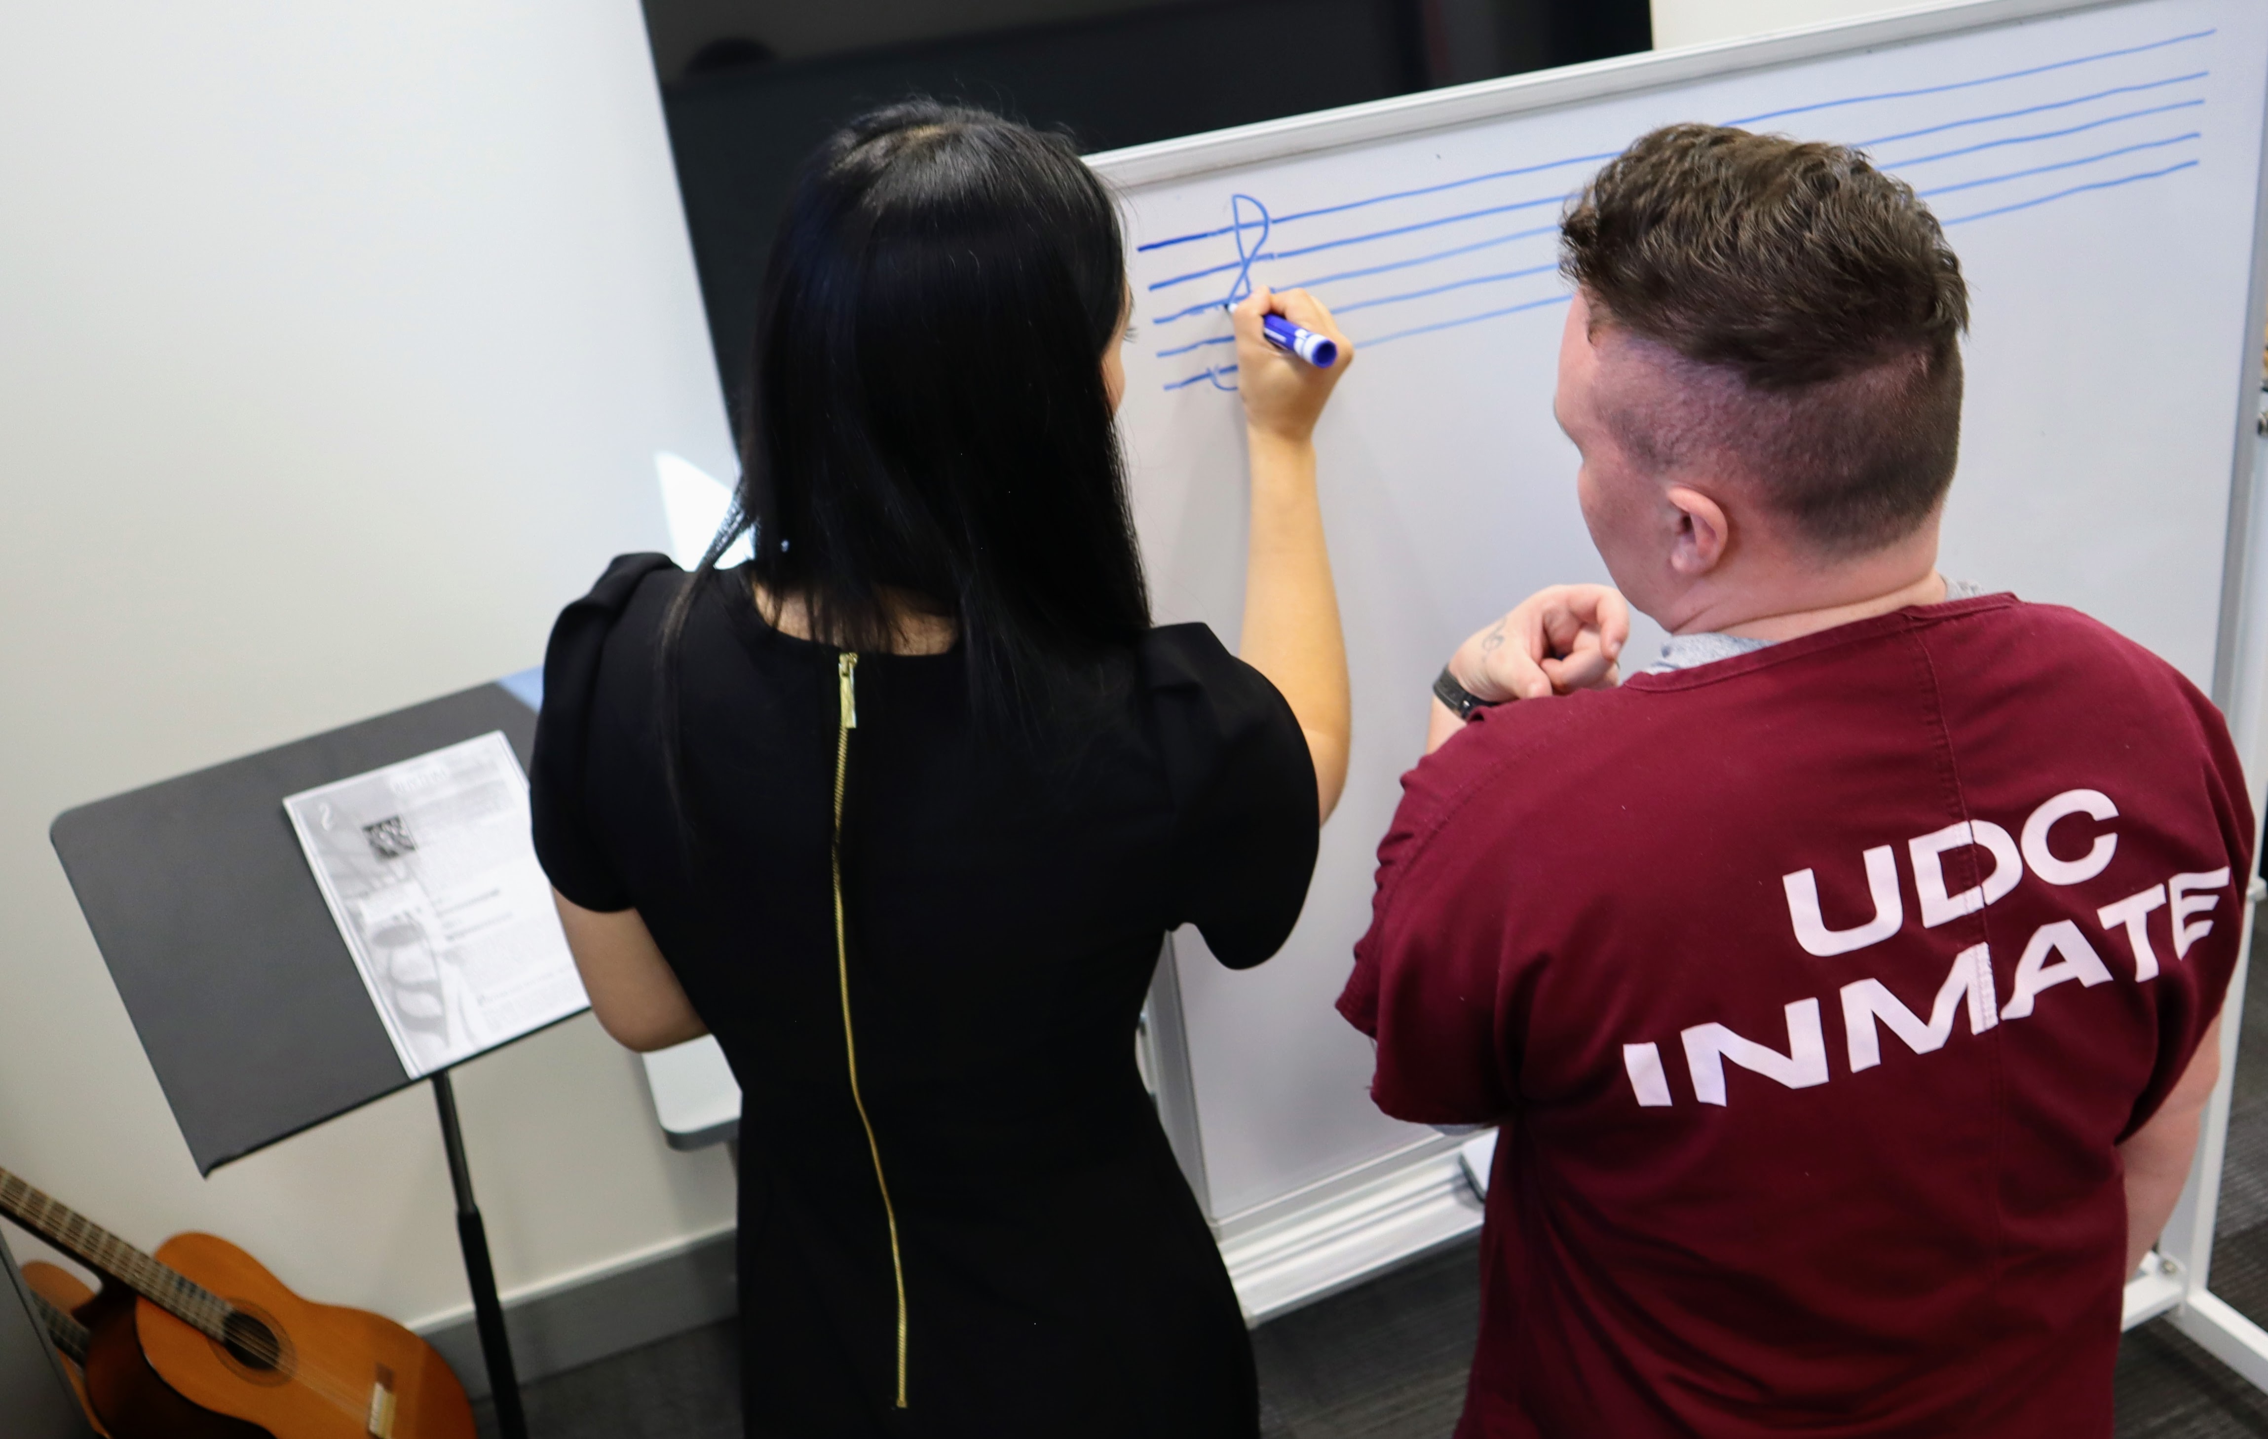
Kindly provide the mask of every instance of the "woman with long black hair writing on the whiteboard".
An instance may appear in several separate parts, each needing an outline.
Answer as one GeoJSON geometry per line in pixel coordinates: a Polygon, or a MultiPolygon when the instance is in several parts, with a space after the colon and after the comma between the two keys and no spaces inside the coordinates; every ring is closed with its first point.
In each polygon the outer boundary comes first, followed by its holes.
{"type": "Polygon", "coordinates": [[[1175,925],[1284,943],[1345,782],[1309,440],[1345,365],[1270,310],[1345,354],[1304,295],[1236,310],[1236,659],[1150,625],[1109,190],[982,111],[866,116],[771,249],[735,523],[551,635],[535,841],[592,1008],[714,1033],[744,1090],[751,1434],[1259,1430],[1134,1024],[1175,925]]]}

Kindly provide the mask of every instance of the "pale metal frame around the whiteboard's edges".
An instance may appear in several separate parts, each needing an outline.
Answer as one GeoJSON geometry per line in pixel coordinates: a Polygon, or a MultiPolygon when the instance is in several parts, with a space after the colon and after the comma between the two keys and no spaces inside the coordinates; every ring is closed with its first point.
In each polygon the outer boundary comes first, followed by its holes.
{"type": "MultiPolygon", "coordinates": [[[[1998,29],[2021,20],[2123,9],[2139,2],[2143,0],[1944,0],[1864,20],[1626,54],[1179,141],[1132,145],[1089,156],[1089,163],[1116,186],[1150,186],[1232,165],[1325,154],[1585,100],[1637,95],[1744,70],[1857,54],[1973,29],[1998,29]]],[[[2261,116],[2261,174],[2254,181],[2252,213],[2252,283],[2245,297],[2248,340],[2234,358],[2239,403],[2229,446],[2229,519],[2211,684],[2211,698],[2227,716],[2236,752],[2245,764],[2254,814],[2263,809],[2263,793],[2268,793],[2268,764],[2261,755],[2261,730],[2268,723],[2268,576],[2261,573],[2259,564],[2259,555],[2268,553],[2268,505],[2254,503],[2261,451],[2254,394],[2261,383],[2261,340],[2268,333],[2268,111],[2261,116]]],[[[2225,1013],[2243,1013],[2252,916],[2259,897],[2261,884],[2254,879],[2245,895],[2245,938],[2229,979],[2225,1013]]],[[[1152,986],[1150,993],[1150,1013],[1152,1024],[1166,1036],[1179,1036],[1182,995],[1170,970],[1168,945],[1161,984],[1152,986]]],[[[2123,1328],[2173,1314],[2173,1323],[2184,1335],[2254,1387],[2268,1389],[2268,1328],[2245,1319],[2209,1287],[2239,1033],[2241,1024],[2223,1024],[2220,1083],[2204,1110],[2189,1185],[2182,1190],[2150,1262],[2127,1283],[2123,1328]]],[[[1200,1185],[1202,1194],[1200,1115],[1188,1088],[1186,1054],[1175,1054],[1175,1058],[1179,1063],[1154,1070],[1159,1074],[1159,1104],[1175,1122],[1175,1151],[1184,1167],[1193,1165],[1191,1181],[1200,1185]]],[[[1222,1258],[1229,1262],[1245,1317],[1259,1323],[1479,1228],[1479,1203],[1456,1163],[1454,1140],[1417,1144],[1263,1206],[1266,1215],[1218,1219],[1222,1258]]]]}

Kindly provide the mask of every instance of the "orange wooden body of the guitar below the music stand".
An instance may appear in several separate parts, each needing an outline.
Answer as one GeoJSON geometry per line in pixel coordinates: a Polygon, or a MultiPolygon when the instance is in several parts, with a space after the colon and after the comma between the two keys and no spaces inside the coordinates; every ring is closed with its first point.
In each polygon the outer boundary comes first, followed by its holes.
{"type": "MultiPolygon", "coordinates": [[[[138,1353],[166,1387],[200,1410],[240,1421],[240,1428],[213,1430],[215,1439],[243,1439],[243,1425],[272,1439],[474,1439],[465,1387],[399,1323],[308,1303],[249,1253],[213,1235],[175,1235],[156,1260],[249,1321],[243,1342],[218,1344],[147,1298],[134,1301],[138,1353]]],[[[88,1360],[88,1389],[109,1421],[95,1369],[88,1360]]],[[[116,1423],[111,1430],[127,1434],[116,1423]]]]}

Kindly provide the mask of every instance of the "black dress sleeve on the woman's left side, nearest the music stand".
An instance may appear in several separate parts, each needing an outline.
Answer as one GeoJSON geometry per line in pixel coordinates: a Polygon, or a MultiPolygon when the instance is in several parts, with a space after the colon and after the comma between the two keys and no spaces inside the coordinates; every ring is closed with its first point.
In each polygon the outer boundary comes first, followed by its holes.
{"type": "Polygon", "coordinates": [[[631,893],[608,861],[583,802],[590,777],[590,723],[599,703],[606,641],[637,587],[667,555],[621,555],[606,567],[590,594],[567,605],[544,648],[544,707],[535,716],[535,759],[528,766],[528,809],[535,859],[551,888],[583,909],[631,909],[631,893]]]}

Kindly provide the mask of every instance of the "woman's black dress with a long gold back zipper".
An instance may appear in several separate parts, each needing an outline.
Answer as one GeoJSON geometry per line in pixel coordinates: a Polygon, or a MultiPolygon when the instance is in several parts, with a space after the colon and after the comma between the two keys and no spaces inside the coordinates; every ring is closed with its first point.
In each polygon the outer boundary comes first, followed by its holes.
{"type": "Polygon", "coordinates": [[[739,1079],[748,1432],[1254,1434],[1250,1342],[1134,1024],[1175,925],[1252,965],[1300,916],[1315,770],[1290,707],[1170,625],[1077,743],[1018,748],[971,718],[959,653],[862,655],[846,1042],[839,653],[712,576],[685,628],[680,820],[655,646],[687,582],[626,555],[560,614],[535,848],[576,904],[644,916],[739,1079]]]}

